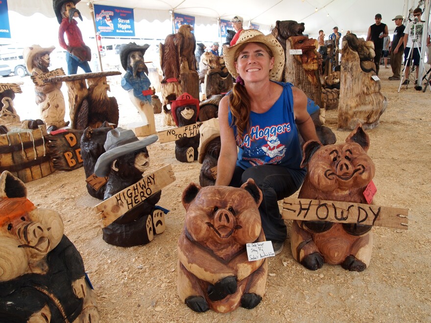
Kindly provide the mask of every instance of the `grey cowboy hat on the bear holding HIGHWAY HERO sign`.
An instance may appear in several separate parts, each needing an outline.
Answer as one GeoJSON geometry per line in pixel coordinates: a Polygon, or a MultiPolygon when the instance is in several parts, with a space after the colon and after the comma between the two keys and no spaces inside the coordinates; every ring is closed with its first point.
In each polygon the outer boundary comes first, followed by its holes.
{"type": "Polygon", "coordinates": [[[99,177],[107,176],[111,163],[117,158],[139,151],[157,141],[159,137],[151,135],[139,140],[132,130],[115,128],[108,132],[103,147],[106,152],[100,155],[95,166],[95,174],[99,177]]]}

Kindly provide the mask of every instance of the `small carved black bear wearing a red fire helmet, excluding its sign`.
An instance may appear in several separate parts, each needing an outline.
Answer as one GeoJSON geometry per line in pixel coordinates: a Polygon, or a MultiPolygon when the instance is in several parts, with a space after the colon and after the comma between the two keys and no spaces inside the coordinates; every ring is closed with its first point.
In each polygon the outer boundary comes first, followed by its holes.
{"type": "MultiPolygon", "coordinates": [[[[190,126],[197,121],[199,114],[199,100],[189,93],[181,94],[172,103],[172,117],[178,127],[190,126]]],[[[199,134],[193,137],[183,137],[175,140],[175,158],[181,162],[197,160],[199,134]]]]}

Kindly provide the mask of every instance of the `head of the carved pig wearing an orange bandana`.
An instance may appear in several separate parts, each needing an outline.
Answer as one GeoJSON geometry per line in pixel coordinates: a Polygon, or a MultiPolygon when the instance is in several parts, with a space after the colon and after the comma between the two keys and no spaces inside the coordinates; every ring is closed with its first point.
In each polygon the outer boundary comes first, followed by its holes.
{"type": "Polygon", "coordinates": [[[0,176],[0,281],[32,272],[60,242],[63,221],[54,210],[36,208],[26,199],[24,183],[11,173],[0,176]]]}

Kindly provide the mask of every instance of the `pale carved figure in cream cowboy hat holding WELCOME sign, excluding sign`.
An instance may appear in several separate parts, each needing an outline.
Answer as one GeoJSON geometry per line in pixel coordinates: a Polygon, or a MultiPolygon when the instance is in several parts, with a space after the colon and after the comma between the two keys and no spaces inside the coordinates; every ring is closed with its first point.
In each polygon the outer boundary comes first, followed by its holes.
{"type": "MultiPolygon", "coordinates": [[[[24,48],[25,64],[32,75],[40,75],[49,72],[49,54],[54,48],[54,46],[44,48],[39,45],[32,45],[24,48]]],[[[63,93],[60,90],[61,86],[62,82],[34,86],[36,104],[39,106],[42,120],[47,124],[48,132],[65,127],[69,124],[69,121],[64,121],[66,106],[63,93]]]]}

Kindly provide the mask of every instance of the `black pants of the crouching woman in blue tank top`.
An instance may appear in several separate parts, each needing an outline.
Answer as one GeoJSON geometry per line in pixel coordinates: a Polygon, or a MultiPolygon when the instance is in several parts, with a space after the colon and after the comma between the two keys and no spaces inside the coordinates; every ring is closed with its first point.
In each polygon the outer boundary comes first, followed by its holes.
{"type": "Polygon", "coordinates": [[[263,194],[259,213],[266,240],[284,241],[287,231],[281,218],[278,201],[295,193],[302,185],[304,177],[304,170],[293,170],[278,165],[253,166],[246,170],[236,166],[229,186],[239,187],[249,178],[253,179],[263,194]]]}

